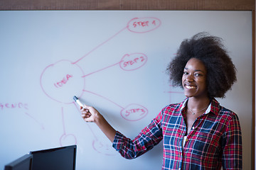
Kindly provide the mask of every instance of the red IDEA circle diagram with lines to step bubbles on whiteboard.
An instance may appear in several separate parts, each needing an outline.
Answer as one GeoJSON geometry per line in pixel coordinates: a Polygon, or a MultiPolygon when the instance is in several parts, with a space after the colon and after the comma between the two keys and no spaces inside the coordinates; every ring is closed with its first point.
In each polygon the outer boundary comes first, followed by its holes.
{"type": "MultiPolygon", "coordinates": [[[[122,33],[122,31],[124,30],[129,30],[132,33],[148,33],[159,28],[159,26],[161,26],[161,21],[159,20],[159,18],[132,18],[132,20],[127,23],[127,26],[119,30],[119,32],[112,35],[112,37],[105,40],[105,42],[102,42],[90,52],[87,52],[87,54],[83,57],[80,57],[79,60],[59,60],[53,64],[48,65],[45,69],[43,69],[40,77],[41,89],[43,90],[44,94],[46,94],[46,96],[48,96],[53,101],[58,103],[64,103],[67,105],[74,104],[77,108],[78,106],[73,101],[73,96],[77,95],[78,98],[82,98],[85,92],[110,101],[110,99],[106,98],[105,96],[96,94],[94,91],[88,91],[85,86],[85,78],[110,67],[119,67],[119,69],[123,70],[124,72],[136,72],[137,69],[144,67],[144,65],[146,64],[148,60],[146,52],[129,52],[120,56],[119,61],[112,63],[111,65],[106,65],[102,69],[91,72],[90,74],[84,73],[83,69],[79,66],[79,62],[81,60],[85,60],[85,57],[90,55],[91,52],[97,50],[98,47],[105,45],[105,43],[112,40],[112,38],[117,36],[119,33],[122,33]]],[[[122,116],[122,118],[124,118],[124,120],[127,121],[141,120],[148,113],[148,109],[138,103],[127,103],[127,106],[120,106],[117,102],[110,102],[114,103],[114,105],[120,108],[120,115],[122,116]]],[[[77,138],[75,137],[75,135],[67,134],[65,131],[65,121],[67,120],[65,120],[63,109],[65,108],[61,108],[61,116],[63,120],[63,135],[60,136],[60,145],[63,146],[66,140],[71,140],[73,141],[73,143],[77,144],[77,138]]],[[[110,154],[109,152],[107,152],[107,146],[97,140],[97,136],[94,134],[92,128],[90,128],[90,131],[95,137],[92,142],[92,147],[97,152],[100,152],[102,154],[110,154]]]]}

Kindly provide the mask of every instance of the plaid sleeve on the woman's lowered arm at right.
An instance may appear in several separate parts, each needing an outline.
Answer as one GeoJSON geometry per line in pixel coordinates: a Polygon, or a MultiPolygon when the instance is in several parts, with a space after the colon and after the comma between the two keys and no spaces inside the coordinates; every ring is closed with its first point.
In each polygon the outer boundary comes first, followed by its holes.
{"type": "Polygon", "coordinates": [[[242,169],[242,133],[235,113],[225,130],[222,162],[223,169],[242,169]]]}

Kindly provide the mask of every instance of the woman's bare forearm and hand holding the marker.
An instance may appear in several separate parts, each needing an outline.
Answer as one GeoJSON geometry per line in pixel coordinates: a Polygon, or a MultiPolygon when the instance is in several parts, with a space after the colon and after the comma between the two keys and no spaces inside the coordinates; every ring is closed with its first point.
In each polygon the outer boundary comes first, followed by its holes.
{"type": "Polygon", "coordinates": [[[95,123],[102,132],[109,138],[111,142],[114,142],[114,136],[116,135],[116,130],[112,128],[110,123],[105,120],[105,118],[92,106],[84,106],[80,108],[82,113],[82,118],[86,122],[93,122],[95,123]]]}

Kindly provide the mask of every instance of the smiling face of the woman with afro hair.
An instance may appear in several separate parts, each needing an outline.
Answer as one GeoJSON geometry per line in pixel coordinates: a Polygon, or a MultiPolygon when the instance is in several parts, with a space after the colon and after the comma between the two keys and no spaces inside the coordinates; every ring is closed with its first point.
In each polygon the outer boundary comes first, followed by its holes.
{"type": "Polygon", "coordinates": [[[186,97],[208,98],[206,87],[206,67],[196,58],[188,60],[182,76],[182,85],[186,97]]]}

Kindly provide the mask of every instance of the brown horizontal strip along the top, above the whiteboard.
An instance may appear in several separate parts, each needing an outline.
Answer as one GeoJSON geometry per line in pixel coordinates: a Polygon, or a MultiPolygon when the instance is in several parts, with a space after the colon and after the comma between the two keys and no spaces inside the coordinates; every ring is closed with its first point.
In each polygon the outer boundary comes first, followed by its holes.
{"type": "Polygon", "coordinates": [[[252,11],[254,0],[1,0],[0,10],[235,10],[252,11]]]}

